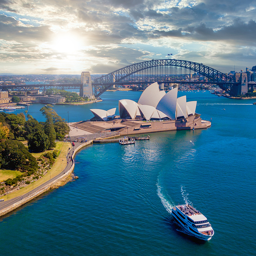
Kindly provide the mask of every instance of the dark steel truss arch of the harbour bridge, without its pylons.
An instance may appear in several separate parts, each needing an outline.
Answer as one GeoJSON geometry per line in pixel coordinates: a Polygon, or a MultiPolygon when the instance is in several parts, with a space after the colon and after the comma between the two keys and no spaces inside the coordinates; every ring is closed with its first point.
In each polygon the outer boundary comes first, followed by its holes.
{"type": "MultiPolygon", "coordinates": [[[[168,67],[170,68],[175,67],[174,73],[176,78],[178,77],[178,79],[176,79],[175,82],[179,82],[182,80],[181,74],[178,74],[178,71],[177,71],[177,67],[179,67],[180,69],[183,68],[185,72],[186,70],[188,70],[190,74],[191,74],[191,71],[193,71],[194,73],[198,73],[199,75],[204,76],[205,78],[208,79],[209,83],[217,84],[220,86],[220,88],[222,88],[225,91],[230,91],[230,87],[232,84],[236,84],[236,85],[238,84],[234,78],[214,68],[205,66],[200,63],[186,61],[186,60],[176,60],[176,59],[150,60],[150,61],[143,61],[143,62],[139,62],[136,64],[132,64],[132,65],[120,68],[107,75],[94,79],[94,81],[92,82],[92,86],[94,86],[95,96],[96,97],[100,96],[102,93],[104,93],[107,89],[109,89],[114,84],[118,84],[121,82],[129,83],[129,81],[124,81],[124,80],[133,74],[136,74],[136,73],[138,74],[143,70],[151,71],[152,69],[153,71],[153,68],[158,68],[158,67],[161,68],[164,66],[165,66],[165,73],[163,74],[163,69],[162,69],[162,74],[161,74],[161,69],[160,69],[160,74],[158,75],[166,75],[166,69],[168,69],[168,67]],[[180,75],[180,78],[179,78],[179,75],[180,75]]],[[[160,82],[165,83],[167,81],[162,80],[160,82]]],[[[168,81],[168,82],[171,82],[171,81],[168,81]]],[[[208,82],[203,81],[201,83],[208,83],[208,82]]],[[[139,83],[140,82],[138,82],[138,84],[139,83]]],[[[183,80],[182,83],[186,83],[186,81],[183,80]]],[[[189,83],[191,83],[191,81],[189,83]]]]}

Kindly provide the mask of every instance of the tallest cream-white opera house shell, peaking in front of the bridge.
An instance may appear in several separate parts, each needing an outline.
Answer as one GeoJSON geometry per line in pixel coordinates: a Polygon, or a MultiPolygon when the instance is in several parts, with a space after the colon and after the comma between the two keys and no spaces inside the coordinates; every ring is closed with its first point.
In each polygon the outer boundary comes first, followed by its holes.
{"type": "Polygon", "coordinates": [[[165,95],[165,91],[159,91],[158,83],[149,85],[141,94],[138,104],[149,105],[156,108],[158,102],[165,95]]]}

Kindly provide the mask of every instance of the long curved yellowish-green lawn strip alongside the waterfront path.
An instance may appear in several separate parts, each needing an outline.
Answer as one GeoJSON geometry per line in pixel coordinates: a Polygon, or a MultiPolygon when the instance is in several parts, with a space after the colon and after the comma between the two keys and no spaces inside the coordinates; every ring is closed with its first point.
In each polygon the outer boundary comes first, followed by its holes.
{"type": "MultiPolygon", "coordinates": [[[[43,183],[45,183],[47,180],[50,180],[50,177],[53,178],[55,177],[56,175],[58,175],[60,172],[61,172],[61,169],[64,170],[64,168],[66,167],[67,163],[66,163],[66,155],[67,155],[67,152],[68,152],[68,148],[71,148],[71,143],[69,142],[61,142],[61,141],[58,141],[56,142],[56,147],[54,149],[57,149],[60,152],[60,155],[59,157],[56,159],[54,165],[52,166],[51,170],[49,170],[46,175],[44,175],[41,179],[39,180],[35,180],[33,182],[34,184],[34,188],[42,185],[43,183]],[[62,161],[63,160],[63,161],[62,161]]],[[[35,156],[35,157],[39,157],[41,156],[42,154],[45,154],[46,152],[48,151],[52,151],[51,150],[47,150],[47,151],[44,151],[44,152],[41,152],[41,153],[37,153],[39,154],[38,156],[35,156]]],[[[21,188],[13,193],[10,193],[9,196],[8,196],[8,199],[12,199],[12,198],[15,198],[17,196],[22,196],[26,193],[29,193],[32,189],[33,189],[33,184],[30,183],[28,186],[24,187],[24,188],[21,188]]],[[[5,201],[7,200],[7,195],[6,196],[2,196],[0,197],[1,199],[4,199],[5,201]]]]}

